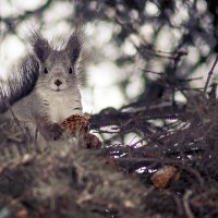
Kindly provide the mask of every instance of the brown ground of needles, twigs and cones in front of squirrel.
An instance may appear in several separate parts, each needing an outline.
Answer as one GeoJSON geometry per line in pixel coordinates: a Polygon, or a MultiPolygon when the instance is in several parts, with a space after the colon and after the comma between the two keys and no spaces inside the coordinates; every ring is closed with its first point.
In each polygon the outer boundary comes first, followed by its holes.
{"type": "Polygon", "coordinates": [[[217,217],[218,99],[162,111],[72,116],[63,126],[77,140],[43,152],[1,118],[0,217],[217,217]],[[142,137],[117,143],[130,132],[142,137]]]}

